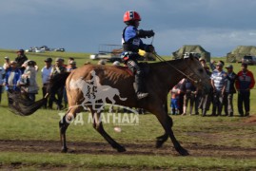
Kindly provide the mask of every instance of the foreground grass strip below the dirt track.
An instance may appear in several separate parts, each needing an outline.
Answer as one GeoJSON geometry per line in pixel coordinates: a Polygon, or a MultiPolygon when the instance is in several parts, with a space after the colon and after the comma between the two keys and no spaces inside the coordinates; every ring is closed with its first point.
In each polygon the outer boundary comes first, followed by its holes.
{"type": "Polygon", "coordinates": [[[16,168],[38,169],[189,169],[189,170],[251,170],[256,168],[256,162],[246,159],[193,158],[168,156],[126,156],[126,155],[72,155],[72,154],[37,154],[33,153],[1,153],[2,164],[16,165],[16,168]],[[111,161],[111,162],[109,162],[111,161]],[[44,164],[42,164],[44,163],[44,164]],[[23,165],[22,165],[23,164],[23,165]],[[19,166],[21,165],[21,166],[19,166]],[[24,166],[25,165],[25,166],[24,166]]]}

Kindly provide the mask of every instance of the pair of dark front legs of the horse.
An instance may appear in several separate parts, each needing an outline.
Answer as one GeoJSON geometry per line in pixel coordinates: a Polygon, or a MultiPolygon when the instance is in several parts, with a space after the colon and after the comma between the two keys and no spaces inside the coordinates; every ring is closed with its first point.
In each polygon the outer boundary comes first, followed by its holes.
{"type": "Polygon", "coordinates": [[[159,120],[159,122],[162,124],[162,126],[164,127],[166,133],[159,137],[157,139],[157,143],[159,143],[159,145],[162,145],[164,142],[167,141],[167,135],[169,136],[171,142],[174,145],[174,148],[176,149],[176,151],[182,155],[182,156],[187,156],[189,155],[187,150],[182,147],[182,145],[180,144],[180,142],[178,142],[173,134],[173,131],[171,129],[172,127],[172,119],[167,115],[167,113],[163,110],[162,112],[159,112],[158,115],[156,115],[157,119],[159,120]]]}

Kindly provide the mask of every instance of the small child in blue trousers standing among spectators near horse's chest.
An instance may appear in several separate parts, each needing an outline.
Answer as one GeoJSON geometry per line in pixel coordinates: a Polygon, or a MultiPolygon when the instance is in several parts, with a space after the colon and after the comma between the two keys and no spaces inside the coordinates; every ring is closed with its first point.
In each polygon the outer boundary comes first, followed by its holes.
{"type": "Polygon", "coordinates": [[[179,94],[181,90],[178,88],[177,85],[174,85],[170,93],[170,113],[172,115],[178,115],[179,113],[179,94]]]}

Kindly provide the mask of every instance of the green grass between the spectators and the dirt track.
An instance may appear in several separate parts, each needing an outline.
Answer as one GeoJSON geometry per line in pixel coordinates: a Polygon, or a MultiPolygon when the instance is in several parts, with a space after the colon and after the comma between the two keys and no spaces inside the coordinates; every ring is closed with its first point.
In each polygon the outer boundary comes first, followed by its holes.
{"type": "MultiPolygon", "coordinates": [[[[2,121],[1,140],[59,141],[58,122],[61,118],[58,111],[40,109],[29,117],[14,115],[7,108],[1,109],[1,111],[3,113],[0,115],[0,121],[2,121]]],[[[88,116],[88,113],[83,113],[84,124],[71,123],[68,129],[69,140],[103,141],[102,137],[92,128],[92,124],[88,123],[88,116]]],[[[173,116],[172,118],[174,120],[173,130],[177,138],[185,143],[198,142],[207,145],[250,147],[256,142],[256,137],[253,136],[256,127],[242,124],[246,118],[200,116],[173,116]],[[202,139],[203,134],[209,138],[218,136],[219,139],[211,142],[211,139],[202,139]],[[231,138],[228,137],[230,135],[231,138]],[[237,143],[240,139],[251,141],[243,144],[237,143]]],[[[116,134],[113,131],[114,126],[114,123],[105,123],[107,132],[120,142],[152,141],[163,133],[160,123],[155,116],[150,114],[139,115],[138,125],[121,125],[122,134],[116,134]]]]}

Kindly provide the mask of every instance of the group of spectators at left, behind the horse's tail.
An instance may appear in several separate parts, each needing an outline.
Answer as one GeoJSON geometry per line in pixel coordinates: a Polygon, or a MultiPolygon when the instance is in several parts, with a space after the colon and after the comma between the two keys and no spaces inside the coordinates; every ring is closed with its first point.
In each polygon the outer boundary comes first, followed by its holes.
{"type": "MultiPolygon", "coordinates": [[[[4,90],[9,93],[21,92],[26,95],[28,101],[35,102],[36,94],[38,94],[39,86],[37,85],[37,73],[41,72],[42,79],[42,93],[43,97],[47,95],[47,86],[49,80],[54,75],[63,72],[70,72],[76,68],[76,62],[73,58],[69,58],[68,65],[65,65],[65,60],[62,58],[56,58],[55,64],[52,64],[53,60],[47,58],[44,60],[45,66],[39,70],[35,61],[28,59],[23,49],[17,51],[17,57],[10,61],[10,58],[6,56],[4,58],[5,63],[0,66],[0,102],[2,100],[2,93],[4,90]]],[[[9,99],[9,103],[11,99],[9,99]]],[[[56,104],[57,109],[62,109],[68,105],[68,98],[65,85],[60,85],[60,88],[51,93],[49,101],[44,104],[44,108],[52,109],[53,103],[56,104]]]]}

